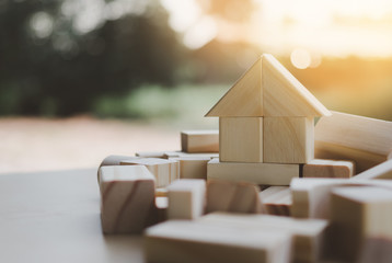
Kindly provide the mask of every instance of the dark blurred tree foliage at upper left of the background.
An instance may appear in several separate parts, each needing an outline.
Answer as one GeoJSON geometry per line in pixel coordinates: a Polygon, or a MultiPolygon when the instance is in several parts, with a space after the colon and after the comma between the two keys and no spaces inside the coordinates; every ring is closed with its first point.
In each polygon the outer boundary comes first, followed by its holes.
{"type": "Polygon", "coordinates": [[[0,0],[0,114],[66,116],[141,83],[174,83],[184,48],[158,1],[79,31],[84,18],[67,1],[0,0]]]}

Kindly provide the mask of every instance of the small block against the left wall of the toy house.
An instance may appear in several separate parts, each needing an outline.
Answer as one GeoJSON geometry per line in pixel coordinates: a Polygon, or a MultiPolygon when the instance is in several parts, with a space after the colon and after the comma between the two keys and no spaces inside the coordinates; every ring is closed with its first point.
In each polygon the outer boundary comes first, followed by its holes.
{"type": "Polygon", "coordinates": [[[185,152],[219,152],[219,130],[183,130],[181,148],[185,152]]]}

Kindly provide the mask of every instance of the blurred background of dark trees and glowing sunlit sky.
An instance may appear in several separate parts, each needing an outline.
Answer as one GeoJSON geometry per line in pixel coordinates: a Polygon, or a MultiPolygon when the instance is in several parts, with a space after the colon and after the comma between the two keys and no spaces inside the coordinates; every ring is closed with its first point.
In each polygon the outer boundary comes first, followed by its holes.
{"type": "Polygon", "coordinates": [[[0,115],[192,123],[266,52],[331,110],[392,119],[391,4],[320,4],[0,0],[0,115]]]}

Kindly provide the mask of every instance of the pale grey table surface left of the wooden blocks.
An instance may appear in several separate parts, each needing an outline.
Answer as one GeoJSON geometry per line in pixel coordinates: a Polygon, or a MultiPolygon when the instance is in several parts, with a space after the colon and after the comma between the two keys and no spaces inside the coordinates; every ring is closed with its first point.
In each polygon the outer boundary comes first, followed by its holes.
{"type": "Polygon", "coordinates": [[[0,262],[143,262],[141,237],[101,232],[96,169],[0,174],[0,262]]]}

